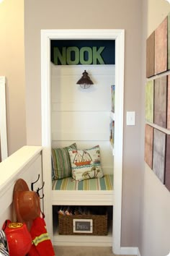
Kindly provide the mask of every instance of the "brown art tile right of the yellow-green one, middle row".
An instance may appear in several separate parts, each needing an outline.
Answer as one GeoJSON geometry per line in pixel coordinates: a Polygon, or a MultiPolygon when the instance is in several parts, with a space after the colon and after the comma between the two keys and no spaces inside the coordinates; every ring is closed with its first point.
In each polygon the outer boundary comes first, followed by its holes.
{"type": "Polygon", "coordinates": [[[166,128],[167,76],[154,82],[154,124],[166,128]]]}

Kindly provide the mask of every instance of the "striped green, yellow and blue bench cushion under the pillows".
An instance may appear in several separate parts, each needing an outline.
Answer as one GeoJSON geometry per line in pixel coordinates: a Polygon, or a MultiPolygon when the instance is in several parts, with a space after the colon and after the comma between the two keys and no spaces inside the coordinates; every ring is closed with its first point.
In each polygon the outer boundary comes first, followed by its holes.
{"type": "Polygon", "coordinates": [[[75,181],[71,177],[53,181],[53,190],[112,190],[113,175],[104,175],[100,179],[84,179],[75,181]]]}

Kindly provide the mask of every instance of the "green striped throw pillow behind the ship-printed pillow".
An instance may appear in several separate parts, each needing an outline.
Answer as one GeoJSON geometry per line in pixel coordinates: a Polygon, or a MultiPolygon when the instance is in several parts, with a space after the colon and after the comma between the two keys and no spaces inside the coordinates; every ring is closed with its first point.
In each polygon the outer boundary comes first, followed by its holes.
{"type": "Polygon", "coordinates": [[[68,150],[76,150],[76,143],[65,148],[51,149],[52,180],[71,176],[71,161],[68,150]]]}

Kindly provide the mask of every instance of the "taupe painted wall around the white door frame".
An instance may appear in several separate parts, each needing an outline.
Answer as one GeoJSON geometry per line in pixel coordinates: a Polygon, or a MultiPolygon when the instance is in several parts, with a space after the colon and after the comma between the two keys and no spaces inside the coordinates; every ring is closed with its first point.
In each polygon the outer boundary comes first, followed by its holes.
{"type": "Polygon", "coordinates": [[[136,112],[136,125],[124,124],[122,180],[122,246],[138,244],[139,198],[142,187],[143,153],[140,118],[141,1],[29,0],[24,4],[25,70],[27,95],[27,143],[41,143],[40,30],[41,29],[125,29],[125,114],[136,112]],[[85,13],[85,17],[84,17],[85,13]],[[133,99],[133,100],[132,100],[133,99]]]}

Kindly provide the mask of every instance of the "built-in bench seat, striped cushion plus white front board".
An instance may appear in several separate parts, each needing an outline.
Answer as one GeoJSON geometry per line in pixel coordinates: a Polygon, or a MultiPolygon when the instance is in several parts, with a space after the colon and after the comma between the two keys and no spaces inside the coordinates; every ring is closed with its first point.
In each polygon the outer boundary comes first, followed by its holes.
{"type": "Polygon", "coordinates": [[[71,177],[52,183],[53,205],[113,205],[113,176],[73,181],[71,177]]]}

